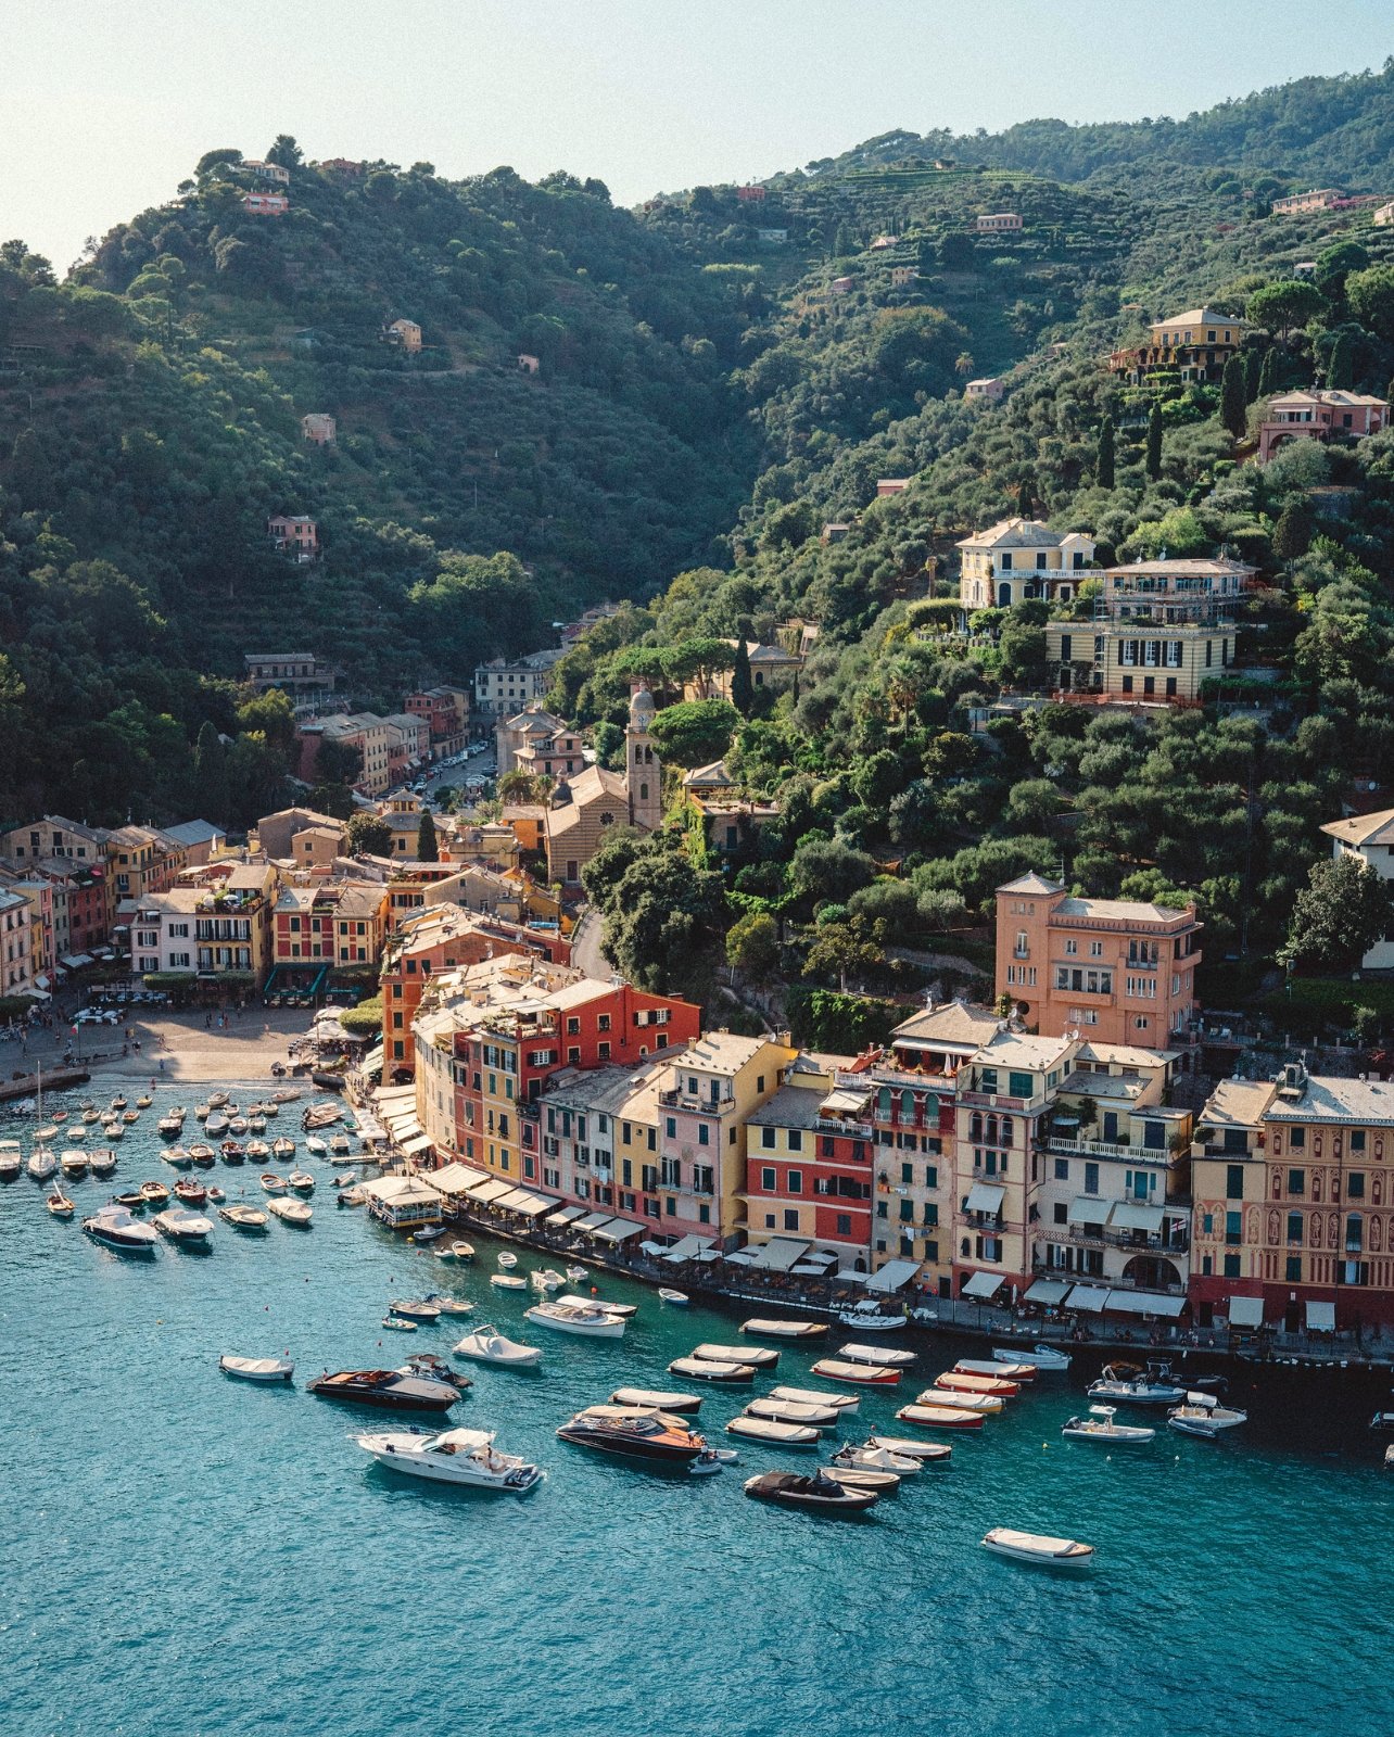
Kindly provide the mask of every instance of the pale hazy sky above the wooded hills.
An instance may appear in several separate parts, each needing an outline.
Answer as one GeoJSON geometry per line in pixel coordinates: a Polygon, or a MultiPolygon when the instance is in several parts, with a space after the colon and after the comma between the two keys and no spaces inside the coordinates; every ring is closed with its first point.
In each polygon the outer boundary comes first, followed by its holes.
{"type": "Polygon", "coordinates": [[[617,203],[893,127],[1182,116],[1382,66],[1391,0],[0,0],[0,240],[59,271],[212,146],[509,163],[617,203]],[[1217,24],[1218,21],[1218,24],[1217,24]],[[1314,28],[1330,21],[1331,30],[1314,28]]]}

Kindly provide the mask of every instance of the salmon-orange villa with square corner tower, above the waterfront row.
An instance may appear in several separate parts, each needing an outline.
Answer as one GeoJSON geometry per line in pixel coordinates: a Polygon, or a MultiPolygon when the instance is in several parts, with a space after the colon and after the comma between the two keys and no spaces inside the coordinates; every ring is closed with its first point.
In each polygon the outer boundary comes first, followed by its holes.
{"type": "Polygon", "coordinates": [[[1026,874],[998,888],[996,992],[1043,1037],[1175,1049],[1198,1014],[1196,907],[1072,898],[1026,874]]]}

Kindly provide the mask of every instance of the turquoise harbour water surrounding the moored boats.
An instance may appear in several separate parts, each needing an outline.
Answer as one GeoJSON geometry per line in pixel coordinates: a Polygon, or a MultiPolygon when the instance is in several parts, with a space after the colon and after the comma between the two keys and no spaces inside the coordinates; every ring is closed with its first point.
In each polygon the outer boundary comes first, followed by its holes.
{"type": "MultiPolygon", "coordinates": [[[[170,1179],[153,1113],[122,1143],[123,1188],[170,1179]]],[[[739,1468],[688,1480],[553,1436],[622,1383],[680,1384],[666,1364],[751,1310],[662,1308],[605,1277],[641,1304],[622,1341],[528,1331],[532,1299],[487,1284],[488,1238],[457,1270],[335,1211],[332,1167],[313,1169],[311,1232],[219,1223],[210,1256],[162,1245],[153,1263],[52,1221],[28,1178],[0,1188],[5,1737],[1389,1728],[1378,1388],[1278,1376],[1238,1390],[1253,1421],[1222,1443],[1163,1431],[1109,1459],[1059,1436],[1095,1355],[956,1436],[947,1468],[869,1520],[810,1520],[740,1480],[815,1456],[747,1443],[739,1468]],[[395,1478],[346,1438],[389,1414],[304,1391],[325,1367],[445,1351],[468,1322],[379,1327],[391,1296],[428,1289],[546,1348],[535,1374],[469,1365],[452,1414],[548,1468],[523,1501],[395,1478]],[[295,1388],[226,1381],[221,1351],[290,1351],[295,1388]],[[1005,1563],[979,1548],[991,1525],[1085,1537],[1099,1567],[1005,1563]]],[[[247,1167],[209,1174],[259,1195],[247,1167]]],[[[78,1212],[111,1186],[73,1185],[78,1212]]],[[[914,1433],[895,1403],[966,1350],[907,1343],[921,1360],[900,1398],[864,1391],[850,1430],[914,1433]]],[[[756,1391],[819,1386],[812,1360],[786,1350],[756,1391]]],[[[709,1390],[702,1426],[725,1440],[740,1403],[709,1390]]]]}

